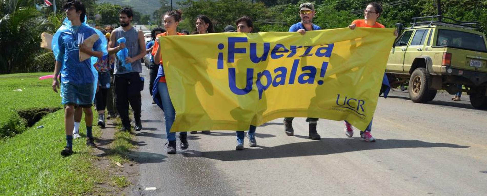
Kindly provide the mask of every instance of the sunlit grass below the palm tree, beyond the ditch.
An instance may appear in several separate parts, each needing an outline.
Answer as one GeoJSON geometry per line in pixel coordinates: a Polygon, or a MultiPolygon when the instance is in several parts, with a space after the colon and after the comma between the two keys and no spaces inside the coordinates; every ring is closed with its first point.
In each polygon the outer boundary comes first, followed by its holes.
{"type": "Polygon", "coordinates": [[[24,130],[19,111],[60,108],[61,98],[52,88],[52,79],[39,80],[52,73],[17,73],[0,75],[0,138],[24,130]]]}

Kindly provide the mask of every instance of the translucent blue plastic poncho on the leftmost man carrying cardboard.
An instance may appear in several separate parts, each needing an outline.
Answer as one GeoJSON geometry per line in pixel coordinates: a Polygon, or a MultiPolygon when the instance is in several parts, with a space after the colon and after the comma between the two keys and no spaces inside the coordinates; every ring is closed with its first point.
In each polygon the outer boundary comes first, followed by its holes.
{"type": "MultiPolygon", "coordinates": [[[[86,21],[86,17],[85,20],[86,21]]],[[[60,70],[60,85],[61,85],[61,97],[63,96],[62,85],[65,84],[89,84],[94,85],[93,92],[80,92],[88,93],[94,100],[94,94],[96,92],[98,72],[94,68],[94,64],[98,60],[98,57],[92,56],[91,58],[79,62],[79,43],[82,43],[84,39],[97,34],[100,38],[94,43],[93,50],[101,51],[103,55],[107,55],[107,39],[104,38],[99,30],[90,27],[83,22],[77,31],[73,28],[71,21],[65,18],[63,25],[59,27],[56,34],[53,36],[52,50],[56,61],[62,62],[60,70]]],[[[62,103],[65,104],[65,103],[62,103]]],[[[76,103],[79,104],[79,103],[76,103]]]]}

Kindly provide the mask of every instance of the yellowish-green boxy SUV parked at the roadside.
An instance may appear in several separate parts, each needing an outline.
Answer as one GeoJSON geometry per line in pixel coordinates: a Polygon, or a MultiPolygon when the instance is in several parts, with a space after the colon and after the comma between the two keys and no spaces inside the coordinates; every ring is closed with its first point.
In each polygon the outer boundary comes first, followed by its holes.
{"type": "Polygon", "coordinates": [[[412,27],[399,28],[389,55],[391,87],[409,86],[416,103],[433,100],[440,89],[464,91],[473,107],[487,109],[487,44],[479,23],[442,16],[412,19],[412,27]]]}

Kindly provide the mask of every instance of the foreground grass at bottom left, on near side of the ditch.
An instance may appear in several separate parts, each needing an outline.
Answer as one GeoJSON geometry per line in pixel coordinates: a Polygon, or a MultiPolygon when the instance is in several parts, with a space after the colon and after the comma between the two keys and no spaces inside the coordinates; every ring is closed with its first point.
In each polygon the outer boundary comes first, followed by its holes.
{"type": "MultiPolygon", "coordinates": [[[[0,141],[0,195],[80,195],[93,193],[96,183],[107,180],[92,164],[84,138],[74,140],[74,155],[59,155],[66,145],[63,119],[64,111],[58,110],[22,134],[0,141]]],[[[80,132],[86,133],[83,121],[80,132]]],[[[100,134],[96,126],[94,134],[100,134]]]]}

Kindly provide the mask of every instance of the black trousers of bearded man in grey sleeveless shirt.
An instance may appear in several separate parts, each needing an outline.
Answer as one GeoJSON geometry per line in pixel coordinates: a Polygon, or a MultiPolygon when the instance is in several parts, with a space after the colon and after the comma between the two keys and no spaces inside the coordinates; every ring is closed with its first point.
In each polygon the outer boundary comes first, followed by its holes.
{"type": "Polygon", "coordinates": [[[140,110],[142,107],[140,89],[143,83],[140,81],[138,72],[116,74],[114,83],[117,97],[116,105],[122,125],[129,128],[129,103],[133,110],[135,122],[140,122],[140,110]]]}

